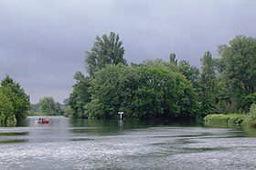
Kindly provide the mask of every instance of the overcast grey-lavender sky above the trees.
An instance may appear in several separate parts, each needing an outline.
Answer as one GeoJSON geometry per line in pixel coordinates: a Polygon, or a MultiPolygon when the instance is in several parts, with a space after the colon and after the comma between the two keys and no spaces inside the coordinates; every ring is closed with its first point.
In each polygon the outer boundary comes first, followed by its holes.
{"type": "Polygon", "coordinates": [[[256,37],[254,0],[0,0],[0,80],[13,77],[31,103],[69,97],[96,35],[120,35],[129,63],[200,57],[235,35],[256,37]]]}

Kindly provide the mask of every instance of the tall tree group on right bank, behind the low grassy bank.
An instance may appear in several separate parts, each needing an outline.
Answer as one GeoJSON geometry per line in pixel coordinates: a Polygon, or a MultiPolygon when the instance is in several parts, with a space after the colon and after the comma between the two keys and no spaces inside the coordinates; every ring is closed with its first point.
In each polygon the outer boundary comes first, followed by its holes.
{"type": "Polygon", "coordinates": [[[236,36],[229,45],[219,45],[220,58],[203,57],[203,107],[212,113],[247,113],[256,102],[256,39],[236,36]],[[209,101],[209,102],[208,102],[209,101]]]}

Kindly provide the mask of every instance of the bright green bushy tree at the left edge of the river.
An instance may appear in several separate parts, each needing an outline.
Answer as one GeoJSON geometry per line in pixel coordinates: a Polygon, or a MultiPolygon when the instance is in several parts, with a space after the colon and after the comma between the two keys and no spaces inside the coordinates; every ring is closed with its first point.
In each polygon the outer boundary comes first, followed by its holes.
{"type": "Polygon", "coordinates": [[[15,125],[27,117],[29,107],[29,95],[21,85],[6,75],[0,87],[0,123],[15,125]]]}

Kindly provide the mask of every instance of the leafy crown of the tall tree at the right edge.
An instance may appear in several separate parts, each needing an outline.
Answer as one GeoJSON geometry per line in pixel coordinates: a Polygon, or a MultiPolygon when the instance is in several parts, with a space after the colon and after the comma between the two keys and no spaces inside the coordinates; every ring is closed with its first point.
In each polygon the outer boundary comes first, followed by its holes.
{"type": "Polygon", "coordinates": [[[256,39],[236,36],[229,45],[219,45],[223,57],[224,74],[232,80],[234,90],[250,95],[256,89],[256,39]]]}

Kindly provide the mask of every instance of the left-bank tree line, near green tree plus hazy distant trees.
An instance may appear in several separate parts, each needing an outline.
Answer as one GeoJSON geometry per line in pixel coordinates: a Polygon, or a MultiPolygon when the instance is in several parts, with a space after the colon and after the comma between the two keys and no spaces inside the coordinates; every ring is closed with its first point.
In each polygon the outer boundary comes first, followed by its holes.
{"type": "Polygon", "coordinates": [[[51,96],[40,99],[32,105],[24,89],[6,75],[0,84],[0,125],[16,125],[23,122],[27,115],[64,115],[64,105],[51,96]]]}

